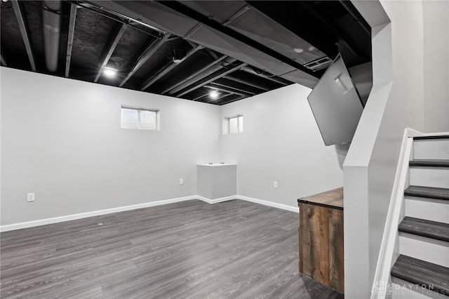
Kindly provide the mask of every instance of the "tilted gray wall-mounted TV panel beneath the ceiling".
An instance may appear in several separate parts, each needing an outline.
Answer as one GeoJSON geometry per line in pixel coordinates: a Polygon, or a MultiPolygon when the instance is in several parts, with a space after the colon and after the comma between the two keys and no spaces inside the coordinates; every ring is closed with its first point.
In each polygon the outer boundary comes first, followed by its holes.
{"type": "Polygon", "coordinates": [[[341,55],[328,67],[307,100],[326,145],[351,142],[363,105],[341,55]]]}

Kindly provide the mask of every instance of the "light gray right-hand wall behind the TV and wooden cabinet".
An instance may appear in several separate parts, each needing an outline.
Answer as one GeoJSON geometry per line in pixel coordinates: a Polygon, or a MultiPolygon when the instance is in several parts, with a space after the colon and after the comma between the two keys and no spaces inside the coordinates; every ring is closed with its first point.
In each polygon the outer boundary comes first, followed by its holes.
{"type": "Polygon", "coordinates": [[[239,195],[297,206],[300,197],[342,186],[346,153],[324,145],[310,91],[293,84],[222,106],[222,117],[243,114],[243,133],[221,140],[222,161],[237,164],[239,195]]]}

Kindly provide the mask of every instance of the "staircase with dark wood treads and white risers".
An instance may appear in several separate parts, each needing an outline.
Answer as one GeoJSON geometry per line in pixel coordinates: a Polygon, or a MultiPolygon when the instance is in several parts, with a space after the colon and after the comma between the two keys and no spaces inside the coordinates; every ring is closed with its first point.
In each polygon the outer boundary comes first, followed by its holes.
{"type": "Polygon", "coordinates": [[[449,135],[413,138],[411,157],[393,298],[449,298],[449,135]]]}

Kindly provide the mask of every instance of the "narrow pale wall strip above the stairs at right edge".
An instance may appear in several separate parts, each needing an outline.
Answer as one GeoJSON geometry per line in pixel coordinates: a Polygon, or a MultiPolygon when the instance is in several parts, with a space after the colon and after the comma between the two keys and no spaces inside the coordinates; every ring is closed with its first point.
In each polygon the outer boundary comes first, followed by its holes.
{"type": "Polygon", "coordinates": [[[424,130],[449,131],[449,1],[423,1],[424,130]]]}

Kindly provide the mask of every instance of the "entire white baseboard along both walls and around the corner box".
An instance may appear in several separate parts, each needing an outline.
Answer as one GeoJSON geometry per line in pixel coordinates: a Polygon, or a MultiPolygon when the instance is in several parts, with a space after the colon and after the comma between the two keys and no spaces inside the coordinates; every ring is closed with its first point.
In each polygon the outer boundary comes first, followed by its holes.
{"type": "Polygon", "coordinates": [[[192,200],[192,199],[199,199],[208,204],[217,204],[219,202],[229,201],[232,199],[241,199],[244,201],[253,202],[255,204],[263,204],[264,206],[272,206],[274,208],[281,208],[283,210],[293,211],[293,212],[298,213],[298,208],[296,208],[294,206],[286,206],[285,204],[276,204],[271,201],[264,201],[262,199],[254,199],[251,197],[244,197],[242,195],[221,197],[219,199],[208,199],[206,197],[201,197],[199,195],[192,195],[189,197],[179,197],[179,198],[175,198],[175,199],[164,199],[161,201],[152,201],[152,202],[147,202],[144,204],[133,204],[130,206],[119,206],[117,208],[106,208],[104,210],[98,210],[98,211],[92,211],[92,212],[86,212],[86,213],[78,213],[78,214],[73,214],[73,215],[65,215],[65,216],[46,218],[46,219],[41,219],[41,220],[33,220],[33,221],[27,221],[27,222],[14,223],[11,225],[3,225],[3,226],[0,226],[0,232],[8,232],[11,230],[21,230],[22,228],[36,227],[36,226],[40,226],[40,225],[48,225],[48,224],[53,224],[53,223],[58,223],[58,222],[69,221],[69,220],[77,220],[77,219],[81,219],[81,218],[88,218],[88,217],[93,217],[93,216],[98,216],[98,215],[106,215],[106,214],[111,214],[111,213],[130,211],[130,210],[135,210],[138,208],[149,208],[152,206],[161,206],[163,204],[173,204],[176,202],[187,201],[187,200],[192,200]]]}

